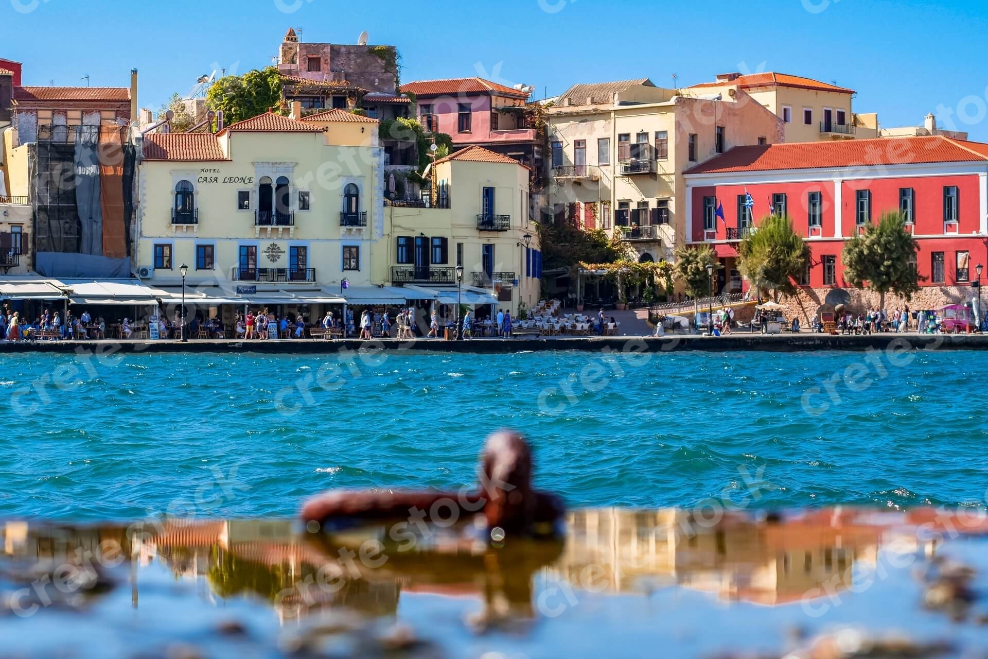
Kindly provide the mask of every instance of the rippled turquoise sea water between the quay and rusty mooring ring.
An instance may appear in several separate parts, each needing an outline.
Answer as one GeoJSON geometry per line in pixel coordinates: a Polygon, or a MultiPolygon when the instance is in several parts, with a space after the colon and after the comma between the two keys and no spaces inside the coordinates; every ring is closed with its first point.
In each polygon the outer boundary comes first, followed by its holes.
{"type": "Polygon", "coordinates": [[[985,503],[988,355],[865,357],[6,356],[0,517],[288,516],[325,488],[456,488],[501,427],[572,506],[743,501],[756,480],[758,508],[985,503]]]}

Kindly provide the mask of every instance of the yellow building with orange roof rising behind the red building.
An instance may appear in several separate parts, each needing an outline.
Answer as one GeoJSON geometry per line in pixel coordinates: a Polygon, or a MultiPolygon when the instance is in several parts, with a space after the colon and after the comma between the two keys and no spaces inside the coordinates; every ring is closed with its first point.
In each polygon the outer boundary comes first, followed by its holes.
{"type": "Polygon", "coordinates": [[[688,87],[683,93],[727,94],[730,90],[744,91],[780,117],[787,142],[878,136],[877,116],[854,113],[853,89],[812,78],[773,72],[722,73],[715,81],[688,87]]]}

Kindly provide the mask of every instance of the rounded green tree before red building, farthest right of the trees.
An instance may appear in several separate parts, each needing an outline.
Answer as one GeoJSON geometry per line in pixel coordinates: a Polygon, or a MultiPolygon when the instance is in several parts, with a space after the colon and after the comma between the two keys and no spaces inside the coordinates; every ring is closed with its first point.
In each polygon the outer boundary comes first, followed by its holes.
{"type": "Polygon", "coordinates": [[[882,307],[889,290],[911,299],[920,289],[917,247],[902,213],[883,212],[877,224],[869,224],[864,235],[855,236],[844,246],[844,279],[855,288],[867,284],[877,290],[882,307]]]}

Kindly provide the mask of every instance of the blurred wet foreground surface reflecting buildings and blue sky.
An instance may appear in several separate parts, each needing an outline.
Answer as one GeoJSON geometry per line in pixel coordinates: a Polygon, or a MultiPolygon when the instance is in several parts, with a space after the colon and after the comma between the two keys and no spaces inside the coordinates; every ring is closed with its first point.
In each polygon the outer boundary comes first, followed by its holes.
{"type": "Polygon", "coordinates": [[[0,657],[983,656],[988,530],[932,510],[472,526],[7,522],[0,657]]]}

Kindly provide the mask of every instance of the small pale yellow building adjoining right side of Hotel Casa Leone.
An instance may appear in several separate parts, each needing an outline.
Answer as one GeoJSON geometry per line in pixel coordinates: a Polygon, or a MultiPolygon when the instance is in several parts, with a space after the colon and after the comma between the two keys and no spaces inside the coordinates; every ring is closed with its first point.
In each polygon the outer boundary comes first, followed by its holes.
{"type": "Polygon", "coordinates": [[[529,217],[530,173],[481,146],[430,165],[425,175],[431,195],[385,207],[388,240],[375,244],[381,255],[374,258],[388,264],[388,282],[454,305],[460,266],[460,300],[479,307],[474,317],[497,309],[517,316],[522,303],[531,309],[538,301],[541,252],[529,217]]]}

